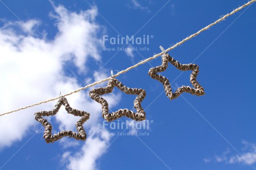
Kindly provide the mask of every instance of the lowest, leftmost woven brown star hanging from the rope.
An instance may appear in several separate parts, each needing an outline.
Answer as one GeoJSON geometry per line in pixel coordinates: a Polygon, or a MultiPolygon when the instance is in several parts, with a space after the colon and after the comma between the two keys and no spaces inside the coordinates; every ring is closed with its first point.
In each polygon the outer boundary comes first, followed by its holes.
{"type": "Polygon", "coordinates": [[[85,111],[78,111],[77,109],[73,109],[70,107],[70,104],[68,104],[67,99],[65,97],[61,97],[55,107],[51,111],[41,111],[35,113],[35,119],[42,123],[42,125],[45,127],[45,133],[43,134],[43,137],[45,138],[46,143],[57,141],[58,139],[61,139],[65,136],[75,138],[77,140],[85,141],[86,139],[86,133],[85,129],[83,129],[83,123],[85,123],[90,118],[90,114],[85,111]],[[74,116],[80,116],[81,118],[76,122],[76,129],[77,132],[72,131],[61,131],[57,134],[52,135],[52,126],[51,124],[42,116],[53,116],[55,115],[58,110],[60,109],[61,105],[65,106],[65,109],[67,113],[73,114],[74,116]]]}

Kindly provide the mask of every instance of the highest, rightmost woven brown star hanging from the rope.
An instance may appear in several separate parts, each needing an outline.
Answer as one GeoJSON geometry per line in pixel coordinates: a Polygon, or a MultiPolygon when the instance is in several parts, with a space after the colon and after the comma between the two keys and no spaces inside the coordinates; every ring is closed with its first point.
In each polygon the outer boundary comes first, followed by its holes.
{"type": "Polygon", "coordinates": [[[178,61],[173,59],[173,57],[169,56],[168,53],[163,54],[162,56],[162,65],[153,67],[149,69],[149,76],[151,78],[157,79],[164,85],[166,96],[170,100],[175,99],[180,96],[181,93],[187,92],[191,94],[195,94],[196,96],[202,96],[204,95],[204,88],[201,87],[201,85],[196,81],[196,76],[198,76],[199,72],[199,66],[196,66],[196,64],[180,64],[178,61]],[[190,74],[190,82],[193,85],[194,88],[191,88],[190,86],[182,86],[176,89],[176,91],[173,93],[171,90],[171,84],[168,80],[168,78],[161,76],[160,74],[157,74],[157,72],[163,72],[168,67],[168,62],[173,64],[176,68],[178,68],[180,71],[187,71],[191,70],[192,73],[190,74]]]}

